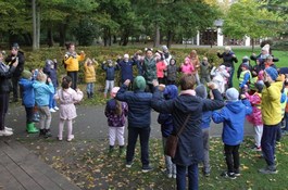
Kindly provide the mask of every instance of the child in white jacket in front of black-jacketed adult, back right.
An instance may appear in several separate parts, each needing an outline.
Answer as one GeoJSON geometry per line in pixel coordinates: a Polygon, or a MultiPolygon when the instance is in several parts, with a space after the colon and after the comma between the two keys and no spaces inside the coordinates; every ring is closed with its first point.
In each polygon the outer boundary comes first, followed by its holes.
{"type": "Polygon", "coordinates": [[[212,81],[215,84],[215,88],[223,94],[225,92],[225,85],[227,79],[230,77],[230,74],[224,65],[221,65],[217,68],[213,66],[211,75],[214,76],[212,81]]]}

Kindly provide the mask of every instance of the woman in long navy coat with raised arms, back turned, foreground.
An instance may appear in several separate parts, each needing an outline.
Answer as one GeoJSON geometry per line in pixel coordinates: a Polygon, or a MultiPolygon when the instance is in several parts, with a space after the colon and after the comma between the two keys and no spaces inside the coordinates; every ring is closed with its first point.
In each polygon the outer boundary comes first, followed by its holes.
{"type": "Polygon", "coordinates": [[[186,168],[188,167],[189,189],[198,189],[198,164],[203,161],[202,140],[202,112],[214,111],[224,106],[222,96],[214,84],[208,84],[212,89],[215,100],[201,99],[193,90],[196,78],[191,74],[184,74],[180,78],[181,93],[172,100],[163,100],[162,91],[164,86],[158,87],[154,80],[154,93],[152,97],[152,109],[163,114],[172,114],[173,135],[176,135],[186,117],[190,115],[188,123],[179,136],[177,150],[173,163],[177,167],[177,189],[186,189],[186,168]],[[161,91],[162,90],[162,91],[161,91]]]}

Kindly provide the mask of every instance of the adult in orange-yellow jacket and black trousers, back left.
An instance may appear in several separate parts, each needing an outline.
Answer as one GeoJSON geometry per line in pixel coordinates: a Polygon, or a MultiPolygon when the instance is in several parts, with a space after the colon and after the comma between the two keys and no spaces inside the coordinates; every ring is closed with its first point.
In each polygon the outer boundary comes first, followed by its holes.
{"type": "Polygon", "coordinates": [[[80,51],[80,55],[78,55],[73,43],[66,43],[66,48],[68,51],[65,53],[64,63],[66,65],[67,76],[72,78],[71,88],[75,90],[78,81],[79,61],[85,59],[85,53],[80,51]]]}

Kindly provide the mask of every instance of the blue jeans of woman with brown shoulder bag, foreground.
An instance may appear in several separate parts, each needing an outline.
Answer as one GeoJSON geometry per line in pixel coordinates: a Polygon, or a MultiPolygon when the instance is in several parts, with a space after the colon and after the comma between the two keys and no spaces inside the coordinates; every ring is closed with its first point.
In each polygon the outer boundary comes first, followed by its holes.
{"type": "MultiPolygon", "coordinates": [[[[176,165],[177,168],[177,190],[186,190],[186,166],[176,165]]],[[[198,164],[188,166],[189,190],[197,190],[198,187],[198,164]]]]}

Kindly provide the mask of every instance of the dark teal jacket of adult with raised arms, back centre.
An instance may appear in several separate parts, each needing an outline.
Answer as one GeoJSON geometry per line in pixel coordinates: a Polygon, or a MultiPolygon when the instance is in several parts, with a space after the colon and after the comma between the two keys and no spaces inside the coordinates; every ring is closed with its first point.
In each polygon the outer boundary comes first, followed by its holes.
{"type": "Polygon", "coordinates": [[[152,85],[153,79],[158,79],[156,75],[156,63],[164,60],[164,55],[161,58],[152,56],[150,60],[147,56],[139,56],[135,54],[134,58],[142,63],[142,76],[146,84],[152,85]]]}

